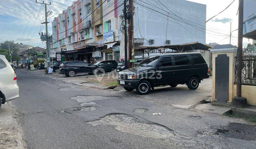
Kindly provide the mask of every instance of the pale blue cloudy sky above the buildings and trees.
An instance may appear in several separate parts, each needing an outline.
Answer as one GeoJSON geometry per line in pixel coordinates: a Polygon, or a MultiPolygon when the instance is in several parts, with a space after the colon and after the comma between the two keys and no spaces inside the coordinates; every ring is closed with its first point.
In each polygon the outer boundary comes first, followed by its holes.
{"type": "MultiPolygon", "coordinates": [[[[43,0],[38,0],[38,2],[43,0]]],[[[48,32],[52,33],[52,21],[54,17],[62,13],[68,6],[72,5],[75,0],[44,0],[48,5],[48,11],[52,15],[48,17],[48,32]]],[[[188,0],[206,5],[206,20],[217,15],[224,10],[233,0],[188,0]]],[[[229,44],[230,22],[231,31],[238,28],[238,1],[224,12],[214,17],[206,23],[206,43],[216,42],[218,44],[229,44]],[[222,34],[214,33],[221,32],[222,34]]],[[[44,6],[35,4],[35,0],[0,0],[0,42],[4,40],[14,40],[16,43],[30,44],[32,46],[45,47],[38,34],[38,31],[45,32],[44,25],[44,6]],[[33,9],[34,7],[34,9],[33,9]],[[33,11],[32,11],[33,9],[33,11]],[[31,13],[32,12],[32,13],[31,13]],[[30,17],[31,16],[31,17],[30,17]],[[27,27],[26,27],[27,26],[27,27]]],[[[231,37],[231,44],[237,45],[238,31],[234,31],[231,37]]],[[[244,38],[244,46],[252,41],[244,38]]]]}

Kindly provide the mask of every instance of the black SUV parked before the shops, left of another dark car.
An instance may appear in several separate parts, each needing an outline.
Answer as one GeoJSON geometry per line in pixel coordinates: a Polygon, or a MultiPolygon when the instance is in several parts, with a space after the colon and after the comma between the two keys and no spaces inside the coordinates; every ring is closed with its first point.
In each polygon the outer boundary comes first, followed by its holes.
{"type": "Polygon", "coordinates": [[[74,77],[78,73],[98,74],[98,66],[91,65],[84,61],[67,61],[60,65],[60,74],[74,77]]]}

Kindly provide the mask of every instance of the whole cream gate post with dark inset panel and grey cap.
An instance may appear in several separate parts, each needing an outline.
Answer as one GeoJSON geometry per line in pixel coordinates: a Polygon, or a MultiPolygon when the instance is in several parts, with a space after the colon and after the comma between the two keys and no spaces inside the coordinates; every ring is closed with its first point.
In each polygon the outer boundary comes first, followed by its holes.
{"type": "Polygon", "coordinates": [[[212,53],[213,66],[212,100],[232,102],[237,48],[230,44],[217,45],[210,51],[212,53]]]}

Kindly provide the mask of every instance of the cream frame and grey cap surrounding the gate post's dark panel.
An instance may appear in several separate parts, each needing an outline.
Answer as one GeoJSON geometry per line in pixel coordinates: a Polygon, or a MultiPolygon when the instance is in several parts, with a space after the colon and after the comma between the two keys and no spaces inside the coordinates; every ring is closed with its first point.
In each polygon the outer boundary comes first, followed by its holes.
{"type": "Polygon", "coordinates": [[[235,57],[236,57],[236,51],[237,48],[224,48],[224,49],[211,49],[210,50],[212,53],[212,85],[213,85],[213,101],[217,100],[215,97],[215,58],[218,55],[226,54],[226,56],[229,57],[229,87],[228,87],[228,102],[232,102],[233,99],[233,87],[234,87],[234,82],[235,82],[235,57]]]}

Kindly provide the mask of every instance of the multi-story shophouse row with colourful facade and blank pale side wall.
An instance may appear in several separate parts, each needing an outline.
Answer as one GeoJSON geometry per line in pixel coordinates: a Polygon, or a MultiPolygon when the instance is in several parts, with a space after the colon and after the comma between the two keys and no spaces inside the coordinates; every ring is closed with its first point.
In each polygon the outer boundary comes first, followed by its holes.
{"type": "MultiPolygon", "coordinates": [[[[123,0],[78,0],[52,22],[52,49],[66,60],[124,59],[123,0]],[[103,4],[102,4],[103,2],[103,4]],[[122,38],[121,38],[122,37],[122,38]],[[121,45],[121,46],[120,46],[121,45]],[[120,54],[121,53],[121,54],[120,54]]],[[[134,1],[134,46],[206,43],[206,5],[185,0],[134,1]]],[[[158,51],[153,51],[158,52],[158,51]]],[[[135,57],[142,57],[134,51],[135,57]]]]}

